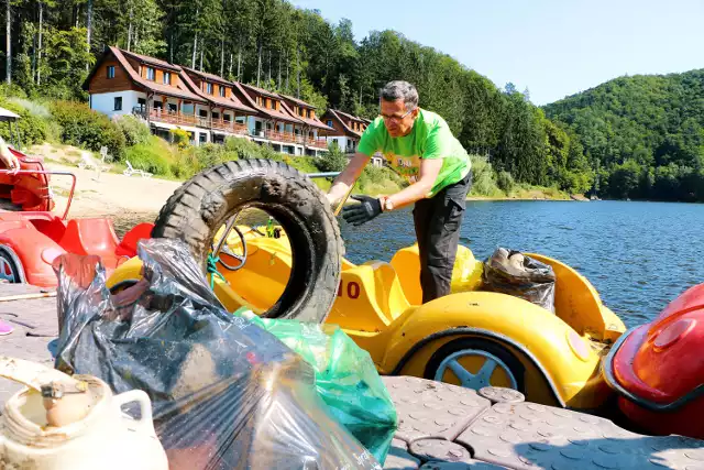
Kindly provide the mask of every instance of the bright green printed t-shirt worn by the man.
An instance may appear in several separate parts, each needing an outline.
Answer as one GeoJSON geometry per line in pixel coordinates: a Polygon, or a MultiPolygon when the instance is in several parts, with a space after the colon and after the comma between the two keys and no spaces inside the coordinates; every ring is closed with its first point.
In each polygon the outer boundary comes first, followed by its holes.
{"type": "Polygon", "coordinates": [[[403,138],[392,138],[384,119],[376,118],[362,134],[358,150],[369,156],[381,152],[389,166],[409,183],[418,179],[420,159],[442,159],[442,167],[427,197],[464,178],[472,166],[444,119],[424,109],[419,109],[410,133],[403,138]]]}

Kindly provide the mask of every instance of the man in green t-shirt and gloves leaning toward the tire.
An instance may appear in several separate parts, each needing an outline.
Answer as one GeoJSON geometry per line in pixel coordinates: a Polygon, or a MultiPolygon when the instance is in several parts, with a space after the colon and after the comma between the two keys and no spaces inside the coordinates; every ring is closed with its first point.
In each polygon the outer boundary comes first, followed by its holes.
{"type": "Polygon", "coordinates": [[[382,90],[381,116],[364,131],[356,154],[328,193],[332,206],[377,152],[410,185],[378,199],[352,196],[361,204],[345,207],[343,217],[360,226],[415,203],[422,302],[448,295],[472,179],[470,157],[440,116],[418,107],[418,91],[406,81],[392,81],[382,90]]]}

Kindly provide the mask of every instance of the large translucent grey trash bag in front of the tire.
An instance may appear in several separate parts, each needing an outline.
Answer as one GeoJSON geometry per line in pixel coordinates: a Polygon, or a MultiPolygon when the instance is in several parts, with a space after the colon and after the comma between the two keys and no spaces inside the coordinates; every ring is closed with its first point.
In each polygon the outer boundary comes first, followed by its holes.
{"type": "Polygon", "coordinates": [[[95,258],[55,262],[55,367],[145,391],[172,470],[381,469],[318,396],[314,369],[229,314],[185,244],[143,240],[139,258],[143,280],[117,295],[95,258]]]}

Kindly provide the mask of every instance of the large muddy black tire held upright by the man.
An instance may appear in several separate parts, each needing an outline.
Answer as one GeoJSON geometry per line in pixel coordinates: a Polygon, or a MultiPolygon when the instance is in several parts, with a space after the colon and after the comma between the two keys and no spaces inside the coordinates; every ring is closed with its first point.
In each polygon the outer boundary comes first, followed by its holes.
{"type": "Polygon", "coordinates": [[[294,258],[284,293],[263,316],[323,323],[338,293],[344,248],[324,194],[296,168],[271,160],[240,160],[208,168],[166,201],[152,237],[184,240],[205,273],[218,228],[245,207],[276,218],[294,258]]]}

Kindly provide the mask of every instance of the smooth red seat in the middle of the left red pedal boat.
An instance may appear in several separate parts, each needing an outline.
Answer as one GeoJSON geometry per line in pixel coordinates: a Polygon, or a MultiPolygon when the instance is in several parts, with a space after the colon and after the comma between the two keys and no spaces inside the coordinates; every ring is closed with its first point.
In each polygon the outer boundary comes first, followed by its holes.
{"type": "Polygon", "coordinates": [[[59,244],[69,253],[114,258],[118,243],[110,219],[74,219],[66,223],[59,244]]]}

